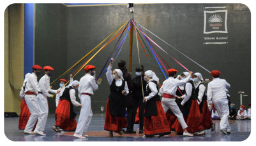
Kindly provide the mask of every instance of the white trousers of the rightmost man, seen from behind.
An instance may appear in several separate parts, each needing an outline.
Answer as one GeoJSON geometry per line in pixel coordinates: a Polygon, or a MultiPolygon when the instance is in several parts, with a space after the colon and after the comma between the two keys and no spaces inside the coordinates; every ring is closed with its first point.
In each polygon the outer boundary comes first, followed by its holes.
{"type": "Polygon", "coordinates": [[[231,128],[229,126],[229,100],[226,98],[216,100],[213,102],[218,115],[220,117],[220,129],[224,129],[226,131],[230,131],[231,128]]]}

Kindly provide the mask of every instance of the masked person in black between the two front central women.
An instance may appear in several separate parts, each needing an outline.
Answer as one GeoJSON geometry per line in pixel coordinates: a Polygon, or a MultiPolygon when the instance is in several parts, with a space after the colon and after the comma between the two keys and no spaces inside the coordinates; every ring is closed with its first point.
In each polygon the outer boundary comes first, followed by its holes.
{"type": "Polygon", "coordinates": [[[132,114],[132,129],[135,121],[135,116],[137,113],[137,108],[139,107],[139,123],[140,129],[139,133],[144,133],[143,126],[144,126],[144,109],[145,103],[143,103],[143,95],[146,94],[146,86],[147,82],[144,80],[144,67],[141,65],[135,69],[136,77],[133,77],[133,114],[132,114]],[[142,92],[143,88],[143,92],[142,92]]]}

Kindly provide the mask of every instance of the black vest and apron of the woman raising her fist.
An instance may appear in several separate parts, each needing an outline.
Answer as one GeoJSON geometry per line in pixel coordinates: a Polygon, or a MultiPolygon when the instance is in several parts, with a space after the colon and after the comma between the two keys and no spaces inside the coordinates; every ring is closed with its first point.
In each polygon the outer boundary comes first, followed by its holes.
{"type": "Polygon", "coordinates": [[[125,97],[122,95],[124,90],[125,81],[122,80],[121,86],[116,86],[116,79],[110,85],[109,95],[109,111],[112,116],[124,117],[125,116],[125,97]]]}

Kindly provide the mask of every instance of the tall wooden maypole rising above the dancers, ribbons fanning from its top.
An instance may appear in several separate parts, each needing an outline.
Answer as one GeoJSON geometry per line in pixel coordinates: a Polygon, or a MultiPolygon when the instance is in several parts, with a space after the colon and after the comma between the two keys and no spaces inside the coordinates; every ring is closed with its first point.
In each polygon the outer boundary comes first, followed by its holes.
{"type": "MultiPolygon", "coordinates": [[[[133,4],[128,4],[130,19],[133,20],[133,4]]],[[[132,21],[131,21],[132,22],[132,21]]],[[[132,43],[133,43],[133,23],[130,23],[130,51],[129,51],[129,72],[132,72],[132,43]]]]}

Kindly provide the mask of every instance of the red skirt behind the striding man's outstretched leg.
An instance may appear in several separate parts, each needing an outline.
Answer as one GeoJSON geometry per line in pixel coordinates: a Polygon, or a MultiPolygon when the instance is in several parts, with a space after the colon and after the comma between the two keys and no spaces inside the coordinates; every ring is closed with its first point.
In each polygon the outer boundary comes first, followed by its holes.
{"type": "MultiPolygon", "coordinates": [[[[192,100],[190,113],[188,114],[188,117],[184,117],[184,121],[188,125],[188,128],[186,128],[188,132],[194,133],[194,132],[202,131],[204,129],[202,127],[202,118],[200,115],[199,104],[197,100],[192,100]]],[[[181,127],[181,124],[179,123],[179,121],[177,121],[177,124],[176,124],[176,132],[177,133],[183,132],[183,128],[181,127]]]]}

